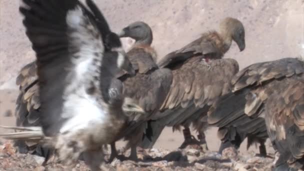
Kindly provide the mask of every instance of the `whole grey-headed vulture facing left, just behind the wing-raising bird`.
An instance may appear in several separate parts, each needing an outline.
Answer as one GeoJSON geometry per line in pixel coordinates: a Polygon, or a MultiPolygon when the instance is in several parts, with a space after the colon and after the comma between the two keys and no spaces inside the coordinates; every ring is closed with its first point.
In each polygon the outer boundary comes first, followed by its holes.
{"type": "MultiPolygon", "coordinates": [[[[131,98],[144,110],[144,117],[136,117],[136,112],[126,112],[128,123],[121,129],[116,140],[124,138],[131,147],[130,159],[137,160],[136,146],[141,142],[148,118],[157,112],[169,91],[172,82],[170,69],[158,68],[154,62],[156,51],[151,47],[152,30],[142,21],[133,22],[124,27],[120,37],[130,37],[135,40],[127,58],[135,69],[135,75],[118,74],[117,78],[123,82],[123,95],[131,98]]],[[[109,161],[117,156],[115,141],[111,143],[109,161]]]]}

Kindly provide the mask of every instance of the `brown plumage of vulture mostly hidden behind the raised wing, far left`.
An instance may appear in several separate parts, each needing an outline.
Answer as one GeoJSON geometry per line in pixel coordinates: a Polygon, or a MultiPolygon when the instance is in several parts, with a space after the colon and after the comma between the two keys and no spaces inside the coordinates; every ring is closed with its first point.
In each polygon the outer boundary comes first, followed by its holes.
{"type": "MultiPolygon", "coordinates": [[[[17,126],[41,126],[39,86],[37,83],[36,62],[30,62],[23,66],[16,77],[16,85],[19,85],[19,94],[16,99],[15,117],[17,126]]],[[[14,145],[21,153],[30,152],[48,157],[49,149],[41,147],[39,141],[16,140],[14,145]]]]}

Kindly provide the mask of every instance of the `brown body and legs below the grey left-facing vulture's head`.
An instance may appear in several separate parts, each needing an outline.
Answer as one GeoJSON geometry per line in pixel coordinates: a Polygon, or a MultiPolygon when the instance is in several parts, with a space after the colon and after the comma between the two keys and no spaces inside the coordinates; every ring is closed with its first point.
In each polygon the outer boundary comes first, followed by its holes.
{"type": "MultiPolygon", "coordinates": [[[[125,112],[128,123],[125,124],[116,138],[118,140],[124,137],[128,141],[127,148],[133,148],[132,159],[136,159],[134,149],[141,142],[147,127],[147,120],[159,110],[172,81],[169,69],[157,67],[153,60],[155,55],[155,50],[149,45],[135,44],[127,52],[127,56],[136,70],[136,75],[119,77],[123,82],[125,97],[133,99],[146,113],[144,116],[138,117],[136,112],[125,112]]],[[[112,152],[113,150],[115,149],[112,149],[112,152]]]]}

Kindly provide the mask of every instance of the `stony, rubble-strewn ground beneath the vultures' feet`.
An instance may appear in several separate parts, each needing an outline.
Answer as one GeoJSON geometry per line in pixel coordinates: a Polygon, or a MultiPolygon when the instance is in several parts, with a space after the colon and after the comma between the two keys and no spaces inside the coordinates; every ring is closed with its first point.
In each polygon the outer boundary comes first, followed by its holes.
{"type": "MultiPolygon", "coordinates": [[[[105,149],[105,158],[109,152],[105,149]]],[[[202,152],[193,147],[183,150],[137,149],[138,162],[114,159],[101,165],[102,170],[271,170],[274,155],[259,157],[255,153],[237,155],[233,148],[227,148],[220,155],[216,152],[202,152]]],[[[129,151],[125,152],[128,155],[129,151]]],[[[10,141],[0,142],[0,170],[70,170],[54,160],[42,166],[43,157],[20,154],[10,141]]],[[[79,161],[72,170],[89,170],[79,161]]]]}

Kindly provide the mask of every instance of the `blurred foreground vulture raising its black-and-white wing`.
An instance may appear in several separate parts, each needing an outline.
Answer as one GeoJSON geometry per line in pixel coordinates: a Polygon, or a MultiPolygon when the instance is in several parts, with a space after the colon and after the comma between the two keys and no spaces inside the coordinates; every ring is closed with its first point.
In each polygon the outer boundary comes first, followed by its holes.
{"type": "Polygon", "coordinates": [[[78,0],[22,2],[19,10],[36,53],[31,65],[36,65],[37,79],[21,83],[29,86],[24,92],[31,97],[20,95],[20,106],[28,111],[28,122],[35,123],[38,115],[40,126],[12,127],[29,131],[2,136],[42,136],[65,163],[73,164],[83,154],[91,170],[100,170],[101,145],[111,143],[127,119],[122,110],[127,98],[115,74],[120,69],[135,72],[119,36],[91,0],[86,0],[89,8],[78,0]],[[38,87],[27,91],[30,86],[38,87]],[[34,92],[38,95],[30,95],[34,92]]]}

